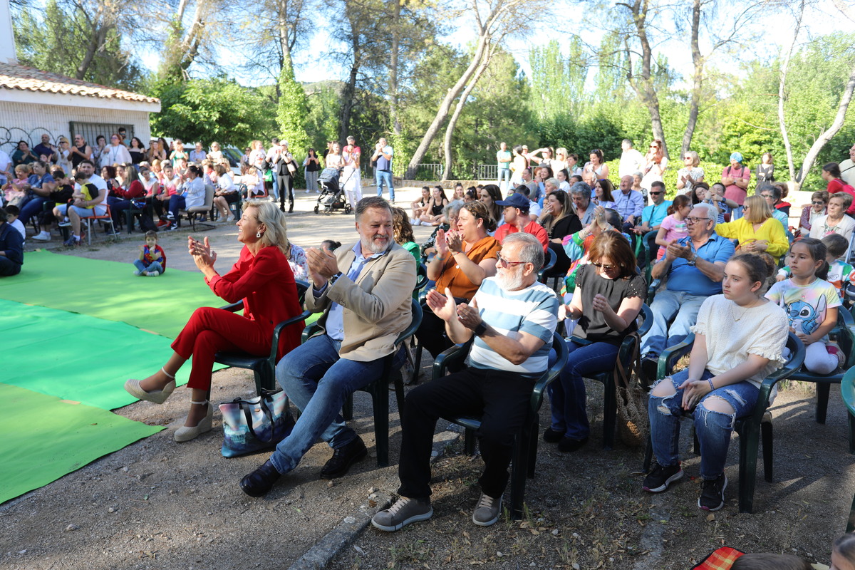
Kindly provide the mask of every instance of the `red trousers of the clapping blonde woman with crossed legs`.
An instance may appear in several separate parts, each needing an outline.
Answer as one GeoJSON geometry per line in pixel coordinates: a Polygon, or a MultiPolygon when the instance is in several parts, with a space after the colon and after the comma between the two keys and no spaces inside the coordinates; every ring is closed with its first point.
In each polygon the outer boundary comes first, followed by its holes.
{"type": "Polygon", "coordinates": [[[193,357],[189,388],[209,390],[214,355],[221,350],[248,352],[251,355],[270,354],[273,326],[262,325],[239,314],[200,307],[193,311],[190,320],[172,344],[183,358],[193,357]]]}

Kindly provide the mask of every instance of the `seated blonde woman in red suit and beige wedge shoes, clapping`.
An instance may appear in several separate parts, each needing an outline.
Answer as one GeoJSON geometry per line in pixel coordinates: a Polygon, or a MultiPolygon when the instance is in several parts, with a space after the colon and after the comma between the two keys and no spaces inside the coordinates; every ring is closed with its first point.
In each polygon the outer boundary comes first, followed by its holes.
{"type": "MultiPolygon", "coordinates": [[[[134,397],[153,403],[164,403],[175,389],[175,373],[193,357],[190,381],[190,412],[184,426],[174,435],[183,442],[209,432],[214,407],[209,403],[211,370],[214,355],[220,350],[249,352],[263,356],[270,353],[273,329],[282,320],[300,314],[297,285],[285,251],[285,215],[270,202],[246,203],[238,221],[238,241],[244,244],[240,259],[232,270],[220,275],[214,269],[216,252],[208,238],[204,243],[188,238],[188,249],[205,283],[227,303],[244,300],[244,314],[223,309],[196,309],[172,344],[174,353],[156,373],[144,380],[125,383],[134,397]]],[[[288,326],[280,336],[279,357],[300,344],[303,326],[288,326]]]]}

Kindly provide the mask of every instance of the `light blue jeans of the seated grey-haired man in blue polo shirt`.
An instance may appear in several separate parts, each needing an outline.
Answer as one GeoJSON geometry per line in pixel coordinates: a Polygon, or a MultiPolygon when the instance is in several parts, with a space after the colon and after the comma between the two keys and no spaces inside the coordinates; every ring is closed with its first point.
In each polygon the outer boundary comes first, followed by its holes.
{"type": "Polygon", "coordinates": [[[641,354],[649,352],[658,356],[667,347],[683,342],[692,332],[689,327],[698,320],[698,311],[706,298],[682,291],[659,291],[650,306],[653,325],[641,338],[641,354]],[[668,326],[672,319],[674,322],[668,326]]]}

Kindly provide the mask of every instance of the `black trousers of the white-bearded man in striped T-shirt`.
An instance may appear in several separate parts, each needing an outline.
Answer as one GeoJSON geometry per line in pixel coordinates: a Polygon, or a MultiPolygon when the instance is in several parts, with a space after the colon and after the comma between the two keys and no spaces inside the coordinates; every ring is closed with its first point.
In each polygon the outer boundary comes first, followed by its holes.
{"type": "Polygon", "coordinates": [[[411,390],[404,401],[398,494],[430,497],[430,455],[440,417],[480,415],[477,436],[485,465],[479,484],[486,495],[501,497],[533,387],[534,379],[519,373],[469,367],[411,390]]]}

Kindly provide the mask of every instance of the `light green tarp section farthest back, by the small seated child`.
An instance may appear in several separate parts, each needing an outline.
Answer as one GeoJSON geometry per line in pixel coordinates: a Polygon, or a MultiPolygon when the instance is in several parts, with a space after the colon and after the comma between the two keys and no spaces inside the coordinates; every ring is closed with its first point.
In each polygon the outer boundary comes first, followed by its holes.
{"type": "Polygon", "coordinates": [[[201,273],[167,269],[159,277],[137,277],[131,263],[50,251],[27,253],[21,273],[0,279],[0,298],[126,322],[168,338],[178,336],[196,308],[226,304],[201,273]]]}

